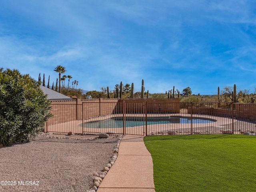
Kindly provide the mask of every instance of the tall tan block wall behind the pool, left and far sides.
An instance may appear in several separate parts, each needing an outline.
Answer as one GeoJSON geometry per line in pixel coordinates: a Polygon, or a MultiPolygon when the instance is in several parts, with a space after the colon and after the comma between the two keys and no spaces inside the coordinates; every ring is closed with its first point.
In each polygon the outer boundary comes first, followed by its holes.
{"type": "Polygon", "coordinates": [[[148,102],[148,113],[169,112],[179,113],[179,98],[174,99],[86,99],[81,100],[52,100],[52,114],[54,115],[47,122],[48,125],[82,120],[108,114],[122,114],[125,106],[126,113],[145,113],[145,103],[148,102]],[[124,104],[125,103],[125,104],[124,104]],[[164,105],[164,103],[177,103],[164,105]]]}

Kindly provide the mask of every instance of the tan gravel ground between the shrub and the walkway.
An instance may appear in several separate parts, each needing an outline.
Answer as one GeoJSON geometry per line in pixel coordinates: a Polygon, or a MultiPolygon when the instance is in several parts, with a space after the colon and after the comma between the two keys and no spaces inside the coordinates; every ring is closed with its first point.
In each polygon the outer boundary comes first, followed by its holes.
{"type": "Polygon", "coordinates": [[[0,182],[10,182],[0,185],[0,192],[84,192],[117,143],[117,136],[41,134],[31,142],[2,147],[0,182]]]}

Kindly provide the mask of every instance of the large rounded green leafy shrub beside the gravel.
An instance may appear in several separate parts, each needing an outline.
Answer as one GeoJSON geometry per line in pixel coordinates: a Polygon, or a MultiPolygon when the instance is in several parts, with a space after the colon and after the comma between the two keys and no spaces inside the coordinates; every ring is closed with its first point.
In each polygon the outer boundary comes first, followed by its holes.
{"type": "Polygon", "coordinates": [[[33,139],[52,116],[50,108],[36,80],[0,68],[0,145],[33,139]]]}

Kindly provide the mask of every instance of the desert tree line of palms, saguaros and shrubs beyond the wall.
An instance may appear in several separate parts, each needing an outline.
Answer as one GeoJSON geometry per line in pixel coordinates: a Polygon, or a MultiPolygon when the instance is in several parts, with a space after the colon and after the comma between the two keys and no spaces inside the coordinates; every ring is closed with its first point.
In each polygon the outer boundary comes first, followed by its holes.
{"type": "MultiPolygon", "coordinates": [[[[58,73],[58,78],[56,78],[56,85],[54,86],[54,82],[52,83],[52,90],[60,92],[66,96],[70,97],[81,97],[82,99],[86,99],[87,96],[91,96],[92,98],[116,98],[118,97],[116,94],[116,90],[122,90],[122,98],[129,98],[131,95],[131,85],[126,83],[122,84],[122,88],[120,88],[120,84],[116,84],[113,90],[110,90],[109,94],[108,87],[101,87],[100,91],[92,90],[87,92],[86,94],[82,94],[82,90],[77,88],[78,81],[72,81],[72,86],[70,86],[70,79],[72,79],[71,75],[62,75],[66,72],[66,68],[64,66],[58,65],[54,68],[54,71],[58,73]],[[61,76],[62,75],[62,76],[61,76]],[[65,80],[68,78],[68,86],[65,86],[65,80]]],[[[142,80],[143,81],[143,80],[142,80]]],[[[43,86],[45,86],[45,76],[43,75],[43,81],[41,81],[41,75],[39,74],[38,82],[43,86]]],[[[47,88],[50,88],[50,76],[48,77],[47,88]]],[[[133,93],[133,98],[144,98],[141,95],[144,93],[144,96],[148,98],[169,98],[169,94],[172,95],[170,98],[180,97],[181,102],[230,102],[234,101],[234,87],[232,86],[224,86],[224,88],[220,91],[218,88],[218,94],[211,96],[200,96],[192,95],[192,90],[190,87],[186,87],[180,91],[176,90],[168,90],[165,94],[162,93],[148,93],[145,92],[145,88],[143,91],[138,91],[133,93]],[[173,94],[172,94],[173,93],[173,94]],[[180,96],[178,96],[180,95],[180,96]]],[[[252,103],[255,102],[256,98],[256,88],[254,88],[253,92],[250,93],[250,90],[238,90],[235,95],[236,102],[240,103],[252,103]]]]}

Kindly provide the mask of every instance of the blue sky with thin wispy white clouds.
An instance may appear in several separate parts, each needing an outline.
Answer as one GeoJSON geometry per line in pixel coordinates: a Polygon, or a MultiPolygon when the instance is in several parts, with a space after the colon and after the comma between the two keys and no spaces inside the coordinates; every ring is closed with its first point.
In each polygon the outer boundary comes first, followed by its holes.
{"type": "Polygon", "coordinates": [[[1,0],[0,67],[84,90],[256,87],[256,1],[1,0]]]}

